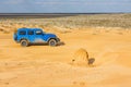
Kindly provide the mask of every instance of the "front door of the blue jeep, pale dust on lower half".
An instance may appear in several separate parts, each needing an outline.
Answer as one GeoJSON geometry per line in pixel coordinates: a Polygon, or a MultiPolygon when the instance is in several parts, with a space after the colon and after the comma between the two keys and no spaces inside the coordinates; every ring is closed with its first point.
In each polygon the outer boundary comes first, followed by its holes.
{"type": "Polygon", "coordinates": [[[35,42],[45,42],[43,30],[35,30],[35,42]]]}

